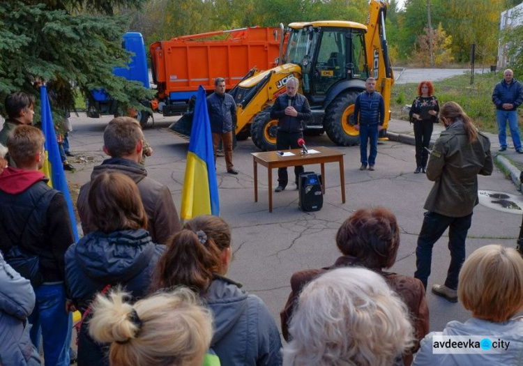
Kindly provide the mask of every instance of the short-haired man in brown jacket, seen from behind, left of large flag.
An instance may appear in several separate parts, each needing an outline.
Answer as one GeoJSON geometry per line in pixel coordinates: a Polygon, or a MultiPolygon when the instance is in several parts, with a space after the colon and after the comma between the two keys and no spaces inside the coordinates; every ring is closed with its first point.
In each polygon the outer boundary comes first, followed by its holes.
{"type": "Polygon", "coordinates": [[[105,128],[103,151],[111,158],[94,167],[91,181],[82,185],[77,201],[84,234],[93,231],[87,194],[91,182],[104,171],[117,171],[135,181],[149,219],[147,229],[154,243],[167,244],[167,239],[181,230],[178,211],[169,188],[149,178],[145,168],[139,165],[142,160],[143,139],[138,121],[130,117],[117,117],[105,128]]]}

